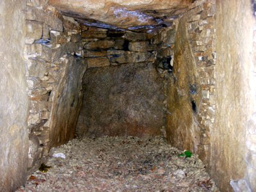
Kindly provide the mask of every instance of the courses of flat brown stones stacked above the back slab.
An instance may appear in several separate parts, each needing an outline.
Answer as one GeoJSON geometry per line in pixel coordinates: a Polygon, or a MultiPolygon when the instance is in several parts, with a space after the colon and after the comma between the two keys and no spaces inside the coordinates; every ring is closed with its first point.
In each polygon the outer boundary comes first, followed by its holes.
{"type": "Polygon", "coordinates": [[[152,34],[83,26],[81,36],[88,68],[154,61],[152,34]]]}

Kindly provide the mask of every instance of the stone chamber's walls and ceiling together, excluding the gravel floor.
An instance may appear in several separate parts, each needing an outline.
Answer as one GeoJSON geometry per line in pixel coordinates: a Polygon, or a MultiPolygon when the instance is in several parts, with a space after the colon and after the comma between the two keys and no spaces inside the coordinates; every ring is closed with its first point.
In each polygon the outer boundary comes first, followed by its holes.
{"type": "Polygon", "coordinates": [[[2,0],[0,191],[78,138],[163,136],[256,191],[255,2],[2,0]]]}

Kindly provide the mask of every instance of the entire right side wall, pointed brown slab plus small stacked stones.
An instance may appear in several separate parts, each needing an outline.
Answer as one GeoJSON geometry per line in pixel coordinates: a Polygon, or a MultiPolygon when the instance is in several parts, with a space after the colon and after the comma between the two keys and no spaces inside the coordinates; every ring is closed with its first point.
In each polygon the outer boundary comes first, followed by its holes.
{"type": "Polygon", "coordinates": [[[173,78],[168,80],[168,141],[199,154],[205,164],[215,112],[214,16],[214,1],[195,1],[176,21],[173,78]]]}

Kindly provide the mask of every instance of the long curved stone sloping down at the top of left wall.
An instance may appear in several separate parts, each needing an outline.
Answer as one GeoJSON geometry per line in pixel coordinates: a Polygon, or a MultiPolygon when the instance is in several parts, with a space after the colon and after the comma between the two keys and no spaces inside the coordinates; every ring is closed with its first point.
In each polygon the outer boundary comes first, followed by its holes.
{"type": "Polygon", "coordinates": [[[63,31],[62,22],[58,17],[51,15],[51,13],[44,12],[43,10],[39,10],[33,7],[27,7],[27,20],[38,20],[40,22],[44,22],[49,25],[53,30],[63,31]]]}

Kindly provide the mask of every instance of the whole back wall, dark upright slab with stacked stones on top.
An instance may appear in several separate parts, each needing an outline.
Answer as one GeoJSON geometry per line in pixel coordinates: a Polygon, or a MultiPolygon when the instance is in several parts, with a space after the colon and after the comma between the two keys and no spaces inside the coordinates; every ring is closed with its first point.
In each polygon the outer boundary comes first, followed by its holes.
{"type": "Polygon", "coordinates": [[[161,42],[150,33],[84,26],[81,36],[88,71],[77,134],[160,134],[164,79],[154,61],[161,42]]]}

